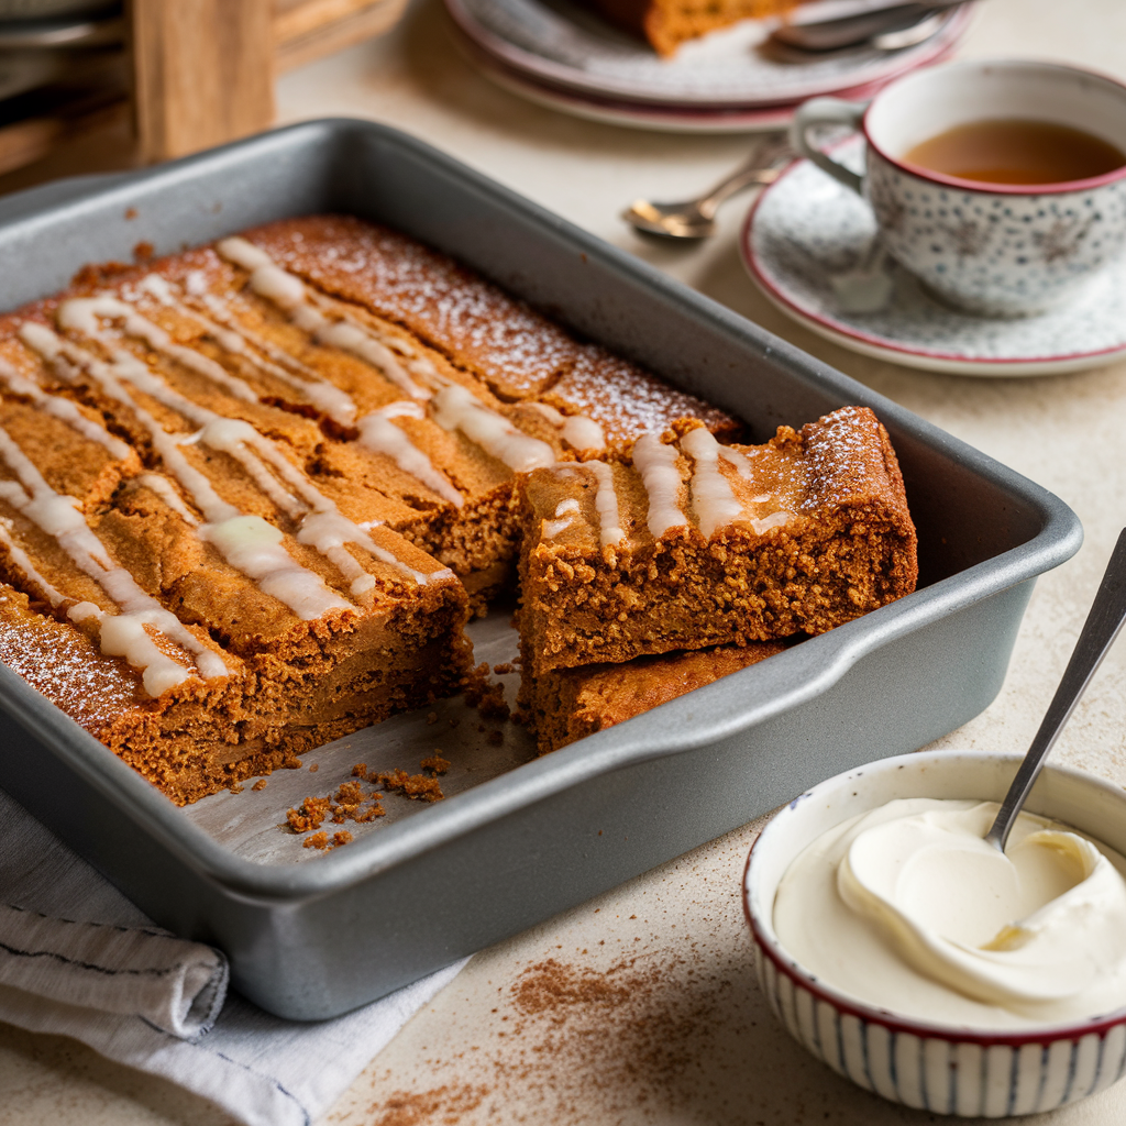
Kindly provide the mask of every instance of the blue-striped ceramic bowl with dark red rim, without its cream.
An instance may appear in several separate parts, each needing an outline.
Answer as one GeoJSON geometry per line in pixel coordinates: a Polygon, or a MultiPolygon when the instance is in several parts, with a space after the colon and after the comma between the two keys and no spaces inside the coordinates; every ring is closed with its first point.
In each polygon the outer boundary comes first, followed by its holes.
{"type": "MultiPolygon", "coordinates": [[[[821,833],[900,797],[1000,801],[1019,760],[928,751],[872,762],[795,798],[751,849],[743,908],[775,1016],[833,1071],[893,1102],[965,1117],[1026,1115],[1101,1091],[1126,1071],[1126,1010],[1016,1031],[930,1025],[838,992],[795,962],[775,935],[778,884],[821,833]]],[[[1126,792],[1110,783],[1048,766],[1027,808],[1126,852],[1126,792]]]]}

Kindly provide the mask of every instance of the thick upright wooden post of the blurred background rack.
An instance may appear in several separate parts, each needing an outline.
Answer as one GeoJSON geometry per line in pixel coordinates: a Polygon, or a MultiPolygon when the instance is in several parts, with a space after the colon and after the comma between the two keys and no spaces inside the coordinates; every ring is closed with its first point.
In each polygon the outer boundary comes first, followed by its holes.
{"type": "Polygon", "coordinates": [[[128,8],[144,160],[182,157],[270,125],[270,0],[131,0],[128,8]]]}

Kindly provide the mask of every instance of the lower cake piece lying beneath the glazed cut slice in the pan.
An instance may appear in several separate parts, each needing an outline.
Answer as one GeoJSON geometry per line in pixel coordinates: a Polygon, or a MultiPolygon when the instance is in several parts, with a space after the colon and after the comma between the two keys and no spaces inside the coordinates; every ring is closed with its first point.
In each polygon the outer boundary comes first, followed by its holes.
{"type": "Polygon", "coordinates": [[[640,656],[624,664],[587,664],[526,678],[521,703],[530,713],[539,753],[632,720],[721,677],[765,661],[783,642],[640,656]]]}

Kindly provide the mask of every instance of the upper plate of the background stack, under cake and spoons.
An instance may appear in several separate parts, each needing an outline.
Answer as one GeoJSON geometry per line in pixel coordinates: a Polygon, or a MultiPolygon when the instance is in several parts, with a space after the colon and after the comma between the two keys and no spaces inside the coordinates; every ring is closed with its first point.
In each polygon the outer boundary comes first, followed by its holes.
{"type": "Polygon", "coordinates": [[[686,43],[672,59],[570,0],[445,0],[464,35],[493,60],[557,88],[632,102],[709,108],[793,104],[888,80],[933,62],[969,23],[950,11],[929,39],[901,51],[860,45],[781,62],[759,50],[774,20],[742,20],[686,43]]]}

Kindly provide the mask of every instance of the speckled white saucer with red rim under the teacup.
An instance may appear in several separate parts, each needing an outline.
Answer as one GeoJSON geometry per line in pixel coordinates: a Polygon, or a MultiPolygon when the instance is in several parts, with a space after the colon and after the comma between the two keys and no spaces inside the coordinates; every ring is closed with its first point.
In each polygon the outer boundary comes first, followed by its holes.
{"type": "MultiPolygon", "coordinates": [[[[863,144],[833,155],[856,171],[863,144]]],[[[1056,375],[1126,357],[1126,258],[1066,305],[1001,320],[962,313],[885,259],[886,303],[856,312],[850,277],[873,254],[875,220],[858,196],[806,160],[760,195],[740,236],[743,265],[766,296],[806,328],[852,351],[955,375],[1056,375]]],[[[870,282],[870,278],[867,279],[870,282]]]]}

